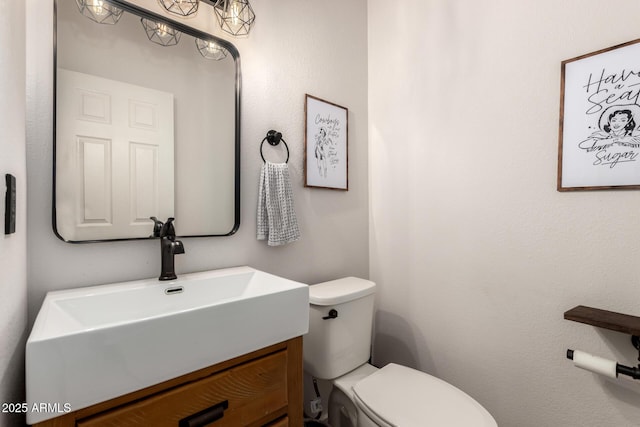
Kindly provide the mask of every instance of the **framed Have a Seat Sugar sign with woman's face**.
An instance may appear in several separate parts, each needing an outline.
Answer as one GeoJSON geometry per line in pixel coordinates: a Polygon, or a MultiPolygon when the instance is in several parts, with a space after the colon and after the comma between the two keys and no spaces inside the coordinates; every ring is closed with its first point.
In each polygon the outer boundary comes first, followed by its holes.
{"type": "Polygon", "coordinates": [[[562,62],[558,191],[640,188],[640,40],[562,62]]]}

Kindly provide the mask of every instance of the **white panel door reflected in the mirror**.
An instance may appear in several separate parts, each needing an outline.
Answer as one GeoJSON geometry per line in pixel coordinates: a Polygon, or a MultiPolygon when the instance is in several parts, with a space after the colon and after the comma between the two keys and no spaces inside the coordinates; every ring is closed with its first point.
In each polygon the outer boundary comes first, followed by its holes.
{"type": "Polygon", "coordinates": [[[58,69],[56,219],[65,240],[148,237],[174,216],[173,95],[58,69]]]}

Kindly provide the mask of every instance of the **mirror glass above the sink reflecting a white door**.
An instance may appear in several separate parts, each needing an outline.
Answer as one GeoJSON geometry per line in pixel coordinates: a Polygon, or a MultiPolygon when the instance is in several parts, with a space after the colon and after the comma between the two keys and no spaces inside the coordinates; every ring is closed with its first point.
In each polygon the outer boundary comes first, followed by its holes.
{"type": "Polygon", "coordinates": [[[232,234],[237,51],[180,24],[179,43],[152,43],[141,18],[158,17],[127,9],[106,25],[57,0],[54,230],[69,242],[149,238],[155,216],[175,217],[182,237],[232,234]]]}

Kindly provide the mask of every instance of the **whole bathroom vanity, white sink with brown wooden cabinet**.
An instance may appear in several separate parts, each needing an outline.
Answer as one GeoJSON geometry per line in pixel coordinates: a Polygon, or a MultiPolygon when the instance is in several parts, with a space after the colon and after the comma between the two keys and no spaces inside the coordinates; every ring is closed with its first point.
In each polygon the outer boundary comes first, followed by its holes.
{"type": "Polygon", "coordinates": [[[53,407],[27,422],[300,426],[308,327],[308,286],[250,267],[49,292],[26,380],[53,407]]]}

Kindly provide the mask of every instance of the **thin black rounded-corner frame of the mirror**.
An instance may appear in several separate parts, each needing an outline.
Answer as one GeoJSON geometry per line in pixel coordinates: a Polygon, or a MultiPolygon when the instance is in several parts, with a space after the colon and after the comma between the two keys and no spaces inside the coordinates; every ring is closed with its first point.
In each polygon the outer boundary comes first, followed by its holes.
{"type": "MultiPolygon", "coordinates": [[[[58,81],[58,2],[60,0],[53,0],[53,200],[52,200],[52,222],[53,232],[60,240],[67,243],[99,243],[99,242],[118,242],[129,240],[155,240],[157,237],[151,236],[153,229],[149,230],[149,237],[128,237],[128,238],[116,238],[116,239],[100,239],[100,240],[67,240],[58,233],[57,229],[57,214],[56,214],[56,126],[57,126],[57,81],[58,81]]],[[[64,0],[63,0],[64,1],[64,0]]],[[[190,27],[183,22],[170,19],[167,16],[159,15],[150,10],[143,9],[139,6],[127,3],[124,0],[109,0],[113,5],[123,9],[125,12],[134,14],[140,18],[147,18],[153,21],[165,23],[176,30],[188,34],[192,37],[202,40],[211,40],[222,46],[231,55],[235,63],[236,79],[235,79],[235,147],[234,147],[234,224],[233,228],[225,234],[196,234],[196,235],[181,235],[176,237],[224,237],[235,234],[240,228],[240,95],[241,95],[241,82],[242,75],[240,69],[240,54],[236,47],[228,40],[218,38],[212,34],[200,31],[196,28],[190,27]]]]}

